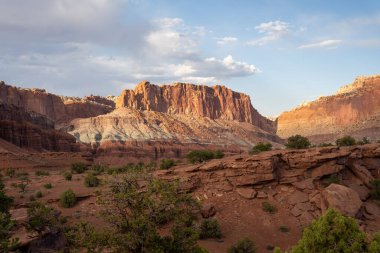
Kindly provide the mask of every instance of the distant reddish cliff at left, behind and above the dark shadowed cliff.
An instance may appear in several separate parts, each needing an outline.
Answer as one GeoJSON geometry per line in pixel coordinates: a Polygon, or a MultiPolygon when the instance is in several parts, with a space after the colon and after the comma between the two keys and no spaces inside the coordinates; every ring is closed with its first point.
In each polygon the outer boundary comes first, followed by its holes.
{"type": "Polygon", "coordinates": [[[42,89],[22,89],[0,82],[0,101],[36,112],[58,123],[95,117],[114,109],[114,102],[99,96],[83,99],[59,97],[42,89]]]}

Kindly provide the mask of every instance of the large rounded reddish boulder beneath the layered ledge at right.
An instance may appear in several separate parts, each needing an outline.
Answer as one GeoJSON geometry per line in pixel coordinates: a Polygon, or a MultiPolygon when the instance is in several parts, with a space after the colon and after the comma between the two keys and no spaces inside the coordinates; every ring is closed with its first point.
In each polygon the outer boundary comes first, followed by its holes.
{"type": "Polygon", "coordinates": [[[362,206],[362,201],[356,191],[339,184],[329,185],[322,191],[321,196],[322,209],[334,208],[351,217],[355,217],[362,206]]]}

